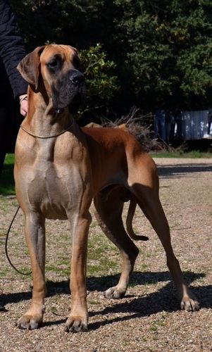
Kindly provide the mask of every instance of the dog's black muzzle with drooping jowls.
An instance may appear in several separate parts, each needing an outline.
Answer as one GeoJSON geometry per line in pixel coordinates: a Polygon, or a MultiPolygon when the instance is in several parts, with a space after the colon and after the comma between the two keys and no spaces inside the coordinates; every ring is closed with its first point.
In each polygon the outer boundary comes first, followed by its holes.
{"type": "Polygon", "coordinates": [[[85,104],[85,76],[78,70],[70,70],[52,87],[52,98],[55,111],[68,108],[75,113],[85,104]]]}

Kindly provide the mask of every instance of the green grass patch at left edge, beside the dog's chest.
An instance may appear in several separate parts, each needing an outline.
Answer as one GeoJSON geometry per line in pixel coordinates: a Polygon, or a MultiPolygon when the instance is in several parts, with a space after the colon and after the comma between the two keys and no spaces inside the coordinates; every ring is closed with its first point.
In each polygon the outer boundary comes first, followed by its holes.
{"type": "Polygon", "coordinates": [[[13,178],[14,154],[6,154],[4,168],[0,177],[0,194],[8,196],[15,194],[15,184],[13,178]]]}

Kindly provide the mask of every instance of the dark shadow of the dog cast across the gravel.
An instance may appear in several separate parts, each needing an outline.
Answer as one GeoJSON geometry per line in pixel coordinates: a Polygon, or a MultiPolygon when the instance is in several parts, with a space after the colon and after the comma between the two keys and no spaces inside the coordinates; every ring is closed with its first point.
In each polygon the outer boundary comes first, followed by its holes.
{"type": "MultiPolygon", "coordinates": [[[[201,279],[204,273],[184,272],[185,282],[191,284],[195,279],[201,279]]],[[[108,275],[104,277],[88,277],[87,290],[105,291],[108,287],[114,286],[118,282],[118,275],[108,275]]],[[[89,329],[99,329],[102,325],[112,324],[113,322],[142,318],[159,312],[175,312],[179,310],[180,305],[175,294],[175,287],[170,279],[170,274],[166,272],[134,272],[130,279],[130,286],[151,285],[157,282],[167,282],[161,289],[144,296],[125,296],[130,298],[130,302],[122,302],[121,299],[114,303],[108,304],[108,307],[99,312],[92,311],[92,305],[89,306],[89,316],[106,315],[110,313],[126,313],[123,317],[112,318],[111,320],[99,321],[89,324],[89,329]]],[[[69,295],[69,282],[47,282],[47,297],[58,294],[69,295]]],[[[202,308],[212,308],[212,285],[192,287],[192,292],[197,296],[202,308]]],[[[1,304],[15,303],[18,301],[29,300],[32,297],[30,291],[17,294],[2,294],[1,304]]],[[[98,299],[98,298],[96,298],[98,299]]],[[[105,298],[106,299],[106,298],[105,298]]],[[[56,320],[54,322],[44,322],[44,325],[58,325],[65,322],[66,319],[56,320]]]]}

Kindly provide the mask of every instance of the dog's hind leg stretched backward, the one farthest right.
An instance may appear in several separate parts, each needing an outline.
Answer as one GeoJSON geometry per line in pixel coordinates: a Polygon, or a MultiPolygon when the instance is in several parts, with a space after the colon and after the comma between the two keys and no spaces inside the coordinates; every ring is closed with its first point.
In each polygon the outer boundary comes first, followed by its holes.
{"type": "Polygon", "coordinates": [[[152,227],[156,231],[156,234],[158,234],[161,244],[166,251],[168,269],[170,270],[170,274],[173,277],[180,296],[181,309],[187,311],[198,310],[199,303],[195,300],[194,296],[192,296],[191,292],[189,292],[182,277],[180,264],[173,253],[173,247],[170,241],[170,229],[158,196],[158,188],[134,184],[132,189],[139,207],[142,208],[144,215],[146,215],[146,218],[151,222],[152,227]]]}

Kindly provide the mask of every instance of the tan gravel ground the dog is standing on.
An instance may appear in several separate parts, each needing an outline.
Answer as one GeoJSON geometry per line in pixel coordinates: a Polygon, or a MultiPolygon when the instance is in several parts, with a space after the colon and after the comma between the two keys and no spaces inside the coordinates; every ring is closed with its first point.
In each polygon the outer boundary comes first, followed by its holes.
{"type": "MultiPolygon", "coordinates": [[[[149,241],[138,244],[139,258],[127,295],[120,300],[107,300],[102,295],[117,279],[119,268],[102,269],[98,275],[89,273],[89,331],[78,334],[64,332],[69,304],[70,246],[62,239],[64,232],[68,233],[68,223],[47,222],[49,285],[44,325],[34,331],[19,330],[15,321],[30,304],[31,279],[14,272],[6,261],[5,233],[17,203],[13,197],[1,196],[0,290],[1,303],[6,309],[0,312],[0,351],[212,351],[212,159],[157,158],[156,164],[161,179],[161,202],[170,224],[175,255],[201,303],[201,310],[195,313],[179,310],[161,244],[149,222],[137,210],[135,230],[148,236],[149,241]],[[67,261],[62,263],[62,257],[67,261]],[[64,270],[56,270],[57,260],[64,270]]],[[[94,238],[97,231],[93,222],[90,237],[94,238]]],[[[99,254],[98,246],[96,243],[95,263],[104,256],[104,252],[99,254]]],[[[102,248],[108,251],[106,255],[111,263],[119,260],[112,247],[105,244],[102,248]]],[[[18,268],[30,268],[22,214],[17,216],[11,229],[8,250],[18,268]]]]}

